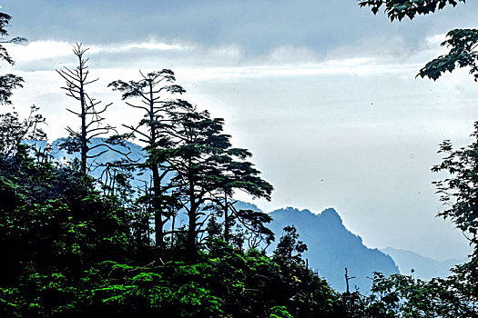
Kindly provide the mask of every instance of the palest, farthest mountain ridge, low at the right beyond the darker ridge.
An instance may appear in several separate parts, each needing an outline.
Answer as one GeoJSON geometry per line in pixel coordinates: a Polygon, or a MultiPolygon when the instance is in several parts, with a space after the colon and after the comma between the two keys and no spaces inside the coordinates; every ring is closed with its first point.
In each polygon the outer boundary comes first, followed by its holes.
{"type": "Polygon", "coordinates": [[[439,262],[419,253],[392,247],[383,248],[381,252],[392,256],[392,259],[399,266],[400,273],[410,275],[413,269],[413,276],[424,280],[448,276],[451,274],[450,269],[453,266],[467,262],[467,259],[450,259],[439,262]]]}

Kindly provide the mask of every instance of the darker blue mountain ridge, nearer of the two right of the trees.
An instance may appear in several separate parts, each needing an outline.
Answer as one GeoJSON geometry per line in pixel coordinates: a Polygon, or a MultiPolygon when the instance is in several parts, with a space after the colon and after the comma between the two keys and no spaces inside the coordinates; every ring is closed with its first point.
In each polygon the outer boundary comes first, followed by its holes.
{"type": "Polygon", "coordinates": [[[365,246],[360,236],[352,234],[342,224],[341,216],[332,208],[313,214],[309,210],[288,207],[270,215],[273,218],[270,229],[278,239],[284,226],[293,224],[297,228],[300,240],[309,248],[303,256],[308,259],[310,267],[338,291],[345,290],[345,267],[349,276],[355,277],[350,281],[351,288],[357,286],[362,293],[370,290],[369,277],[373,272],[399,273],[391,256],[365,246]]]}

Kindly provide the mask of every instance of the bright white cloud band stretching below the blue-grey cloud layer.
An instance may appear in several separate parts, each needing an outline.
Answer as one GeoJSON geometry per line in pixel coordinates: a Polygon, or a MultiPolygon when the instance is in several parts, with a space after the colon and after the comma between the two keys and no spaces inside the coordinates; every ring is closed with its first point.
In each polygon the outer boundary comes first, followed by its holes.
{"type": "MultiPolygon", "coordinates": [[[[442,52],[442,35],[427,38],[422,51],[397,59],[382,55],[363,55],[350,47],[341,54],[320,56],[306,47],[280,46],[268,55],[249,56],[237,45],[203,47],[188,43],[162,43],[155,40],[131,44],[85,45],[95,72],[122,72],[137,69],[172,68],[198,80],[235,80],[276,76],[307,75],[414,75],[424,63],[442,52]],[[344,52],[348,52],[344,55],[344,52]]],[[[51,71],[63,65],[75,67],[73,44],[60,41],[34,41],[8,45],[15,58],[15,69],[51,71]]]]}

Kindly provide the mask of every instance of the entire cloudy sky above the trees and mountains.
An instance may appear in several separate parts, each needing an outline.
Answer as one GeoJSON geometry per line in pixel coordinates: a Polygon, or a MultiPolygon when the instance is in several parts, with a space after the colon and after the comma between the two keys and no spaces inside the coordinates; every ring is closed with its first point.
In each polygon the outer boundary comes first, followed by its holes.
{"type": "MultiPolygon", "coordinates": [[[[76,67],[72,46],[89,47],[90,94],[111,124],[140,114],[110,82],[138,70],[172,69],[183,98],[226,120],[232,142],[248,148],[274,185],[262,210],[335,208],[369,247],[392,246],[443,260],[468,242],[442,211],[432,181],[444,139],[469,144],[478,84],[466,71],[436,82],[415,78],[444,53],[450,29],[477,27],[476,2],[391,23],[341,0],[0,0],[12,15],[7,45],[25,78],[14,106],[41,107],[51,139],[76,126],[55,70],[76,67]]],[[[4,108],[3,111],[8,111],[4,108]]],[[[239,194],[239,198],[248,200],[239,194]]]]}

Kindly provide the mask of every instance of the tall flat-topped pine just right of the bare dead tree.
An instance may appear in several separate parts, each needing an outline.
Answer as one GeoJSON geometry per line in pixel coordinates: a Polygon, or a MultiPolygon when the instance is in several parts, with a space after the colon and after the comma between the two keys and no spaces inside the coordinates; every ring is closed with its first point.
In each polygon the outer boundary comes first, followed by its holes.
{"type": "Polygon", "coordinates": [[[122,99],[126,101],[127,105],[141,110],[144,114],[139,124],[124,124],[124,126],[129,130],[130,136],[137,137],[145,144],[144,150],[147,152],[147,158],[142,167],[152,174],[152,191],[148,196],[148,201],[151,203],[154,214],[156,247],[158,253],[161,253],[165,247],[164,225],[172,214],[172,211],[168,211],[168,206],[170,206],[168,204],[168,187],[163,187],[162,184],[170,172],[169,167],[165,165],[164,150],[170,144],[165,127],[168,125],[168,113],[177,107],[174,100],[168,99],[168,96],[182,94],[185,90],[178,84],[174,84],[176,78],[171,70],[163,69],[147,73],[147,75],[141,71],[139,73],[141,79],[138,81],[118,80],[109,86],[122,94],[122,99]],[[129,99],[135,99],[137,104],[127,102],[129,99]]]}

